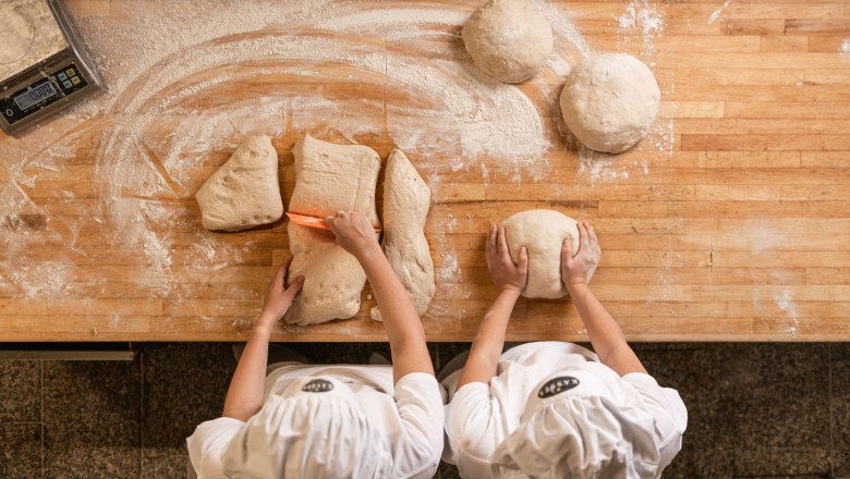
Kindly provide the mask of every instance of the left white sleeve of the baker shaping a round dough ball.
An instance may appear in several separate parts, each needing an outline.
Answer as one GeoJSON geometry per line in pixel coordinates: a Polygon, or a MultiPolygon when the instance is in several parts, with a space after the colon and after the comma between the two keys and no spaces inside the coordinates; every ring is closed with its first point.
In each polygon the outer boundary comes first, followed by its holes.
{"type": "Polygon", "coordinates": [[[503,439],[499,421],[494,420],[495,415],[501,414],[499,409],[498,403],[493,401],[489,385],[483,382],[464,384],[446,406],[449,443],[442,458],[457,465],[462,477],[489,475],[490,455],[503,439]]]}

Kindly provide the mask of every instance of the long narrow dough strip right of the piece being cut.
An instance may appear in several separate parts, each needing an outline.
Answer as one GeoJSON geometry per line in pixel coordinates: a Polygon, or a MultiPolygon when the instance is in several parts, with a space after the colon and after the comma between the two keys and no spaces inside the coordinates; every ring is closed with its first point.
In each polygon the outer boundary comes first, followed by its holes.
{"type": "MultiPolygon", "coordinates": [[[[434,261],[425,240],[430,191],[401,150],[387,160],[384,180],[384,254],[422,316],[434,297],[434,261]]],[[[380,321],[380,310],[372,308],[380,321]]]]}

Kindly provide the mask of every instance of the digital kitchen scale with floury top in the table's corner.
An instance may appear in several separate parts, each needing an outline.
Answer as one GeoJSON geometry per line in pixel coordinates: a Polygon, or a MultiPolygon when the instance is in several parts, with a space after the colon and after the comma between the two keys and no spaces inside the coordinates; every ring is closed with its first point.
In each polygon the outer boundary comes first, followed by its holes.
{"type": "Polygon", "coordinates": [[[100,89],[59,0],[0,0],[0,127],[16,134],[100,89]]]}

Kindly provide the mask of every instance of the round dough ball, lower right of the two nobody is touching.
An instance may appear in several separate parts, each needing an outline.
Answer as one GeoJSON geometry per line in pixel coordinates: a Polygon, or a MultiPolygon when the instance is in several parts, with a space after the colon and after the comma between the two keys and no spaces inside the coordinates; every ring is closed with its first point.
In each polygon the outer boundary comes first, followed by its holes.
{"type": "Polygon", "coordinates": [[[600,54],[572,70],[561,91],[561,113],[587,148],[619,153],[646,134],[660,98],[643,62],[626,53],[600,54]]]}

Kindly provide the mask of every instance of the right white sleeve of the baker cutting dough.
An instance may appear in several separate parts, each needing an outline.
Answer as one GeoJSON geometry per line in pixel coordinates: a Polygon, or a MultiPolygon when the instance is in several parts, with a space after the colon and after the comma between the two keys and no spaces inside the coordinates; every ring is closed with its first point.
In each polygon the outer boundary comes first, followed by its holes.
{"type": "Polygon", "coordinates": [[[424,372],[411,372],[399,379],[393,397],[404,433],[412,443],[397,457],[406,464],[413,477],[433,477],[442,453],[442,396],[437,379],[424,372]]]}

